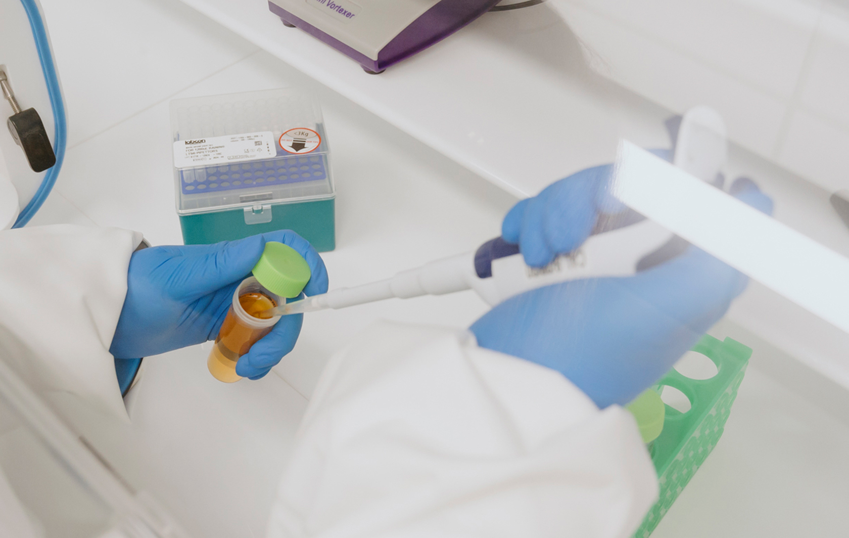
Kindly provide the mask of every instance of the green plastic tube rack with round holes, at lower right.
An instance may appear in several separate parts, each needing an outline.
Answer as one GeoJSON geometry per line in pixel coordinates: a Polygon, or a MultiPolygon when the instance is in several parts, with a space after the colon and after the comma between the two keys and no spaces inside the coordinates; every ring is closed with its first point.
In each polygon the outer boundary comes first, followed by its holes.
{"type": "Polygon", "coordinates": [[[693,351],[712,360],[717,375],[691,379],[673,369],[655,385],[678,388],[692,406],[682,413],[666,405],[663,431],[650,448],[660,496],[633,538],[648,538],[717,445],[751,357],[751,348],[731,338],[719,341],[710,335],[702,337],[693,351]]]}

